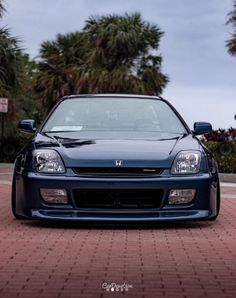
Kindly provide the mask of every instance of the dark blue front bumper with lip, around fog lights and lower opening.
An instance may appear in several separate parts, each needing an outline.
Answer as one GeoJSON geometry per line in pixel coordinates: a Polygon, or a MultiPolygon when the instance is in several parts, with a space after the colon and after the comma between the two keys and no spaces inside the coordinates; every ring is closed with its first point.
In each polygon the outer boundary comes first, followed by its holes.
{"type": "Polygon", "coordinates": [[[164,175],[155,178],[78,177],[72,172],[64,176],[34,172],[16,174],[16,213],[32,219],[68,221],[170,221],[210,218],[216,215],[217,176],[201,173],[195,176],[164,175]],[[40,188],[67,190],[68,205],[46,204],[40,188]],[[168,205],[171,189],[195,188],[195,199],[188,205],[168,205]],[[160,208],[139,210],[79,209],[74,204],[74,189],[161,189],[160,208]]]}

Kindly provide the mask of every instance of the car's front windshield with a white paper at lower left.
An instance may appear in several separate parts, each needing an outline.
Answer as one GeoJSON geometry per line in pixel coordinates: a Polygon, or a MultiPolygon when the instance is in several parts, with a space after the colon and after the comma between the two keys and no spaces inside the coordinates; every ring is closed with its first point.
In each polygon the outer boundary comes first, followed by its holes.
{"type": "Polygon", "coordinates": [[[133,97],[78,97],[62,101],[42,132],[76,137],[162,137],[187,131],[164,101],[133,97]]]}

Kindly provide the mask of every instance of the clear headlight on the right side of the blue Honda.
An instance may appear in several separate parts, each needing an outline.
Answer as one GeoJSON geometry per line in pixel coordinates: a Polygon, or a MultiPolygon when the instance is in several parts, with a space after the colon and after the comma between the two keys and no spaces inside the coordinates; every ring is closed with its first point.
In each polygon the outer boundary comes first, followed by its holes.
{"type": "Polygon", "coordinates": [[[199,151],[181,151],[174,160],[171,174],[196,174],[199,172],[200,162],[199,151]]]}

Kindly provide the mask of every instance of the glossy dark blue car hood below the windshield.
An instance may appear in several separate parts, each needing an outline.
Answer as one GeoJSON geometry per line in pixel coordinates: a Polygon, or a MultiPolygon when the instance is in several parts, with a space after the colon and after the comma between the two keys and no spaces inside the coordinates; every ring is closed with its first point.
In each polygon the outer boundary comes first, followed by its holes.
{"type": "Polygon", "coordinates": [[[199,150],[192,135],[169,139],[81,139],[62,140],[37,134],[36,148],[51,148],[62,157],[66,167],[112,167],[116,160],[127,167],[170,168],[181,150],[199,150]]]}

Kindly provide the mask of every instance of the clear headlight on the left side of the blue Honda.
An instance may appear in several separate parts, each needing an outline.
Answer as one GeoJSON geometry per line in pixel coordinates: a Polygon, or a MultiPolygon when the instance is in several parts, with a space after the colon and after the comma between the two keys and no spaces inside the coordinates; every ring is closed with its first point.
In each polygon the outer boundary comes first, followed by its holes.
{"type": "Polygon", "coordinates": [[[60,155],[49,149],[38,149],[33,153],[34,168],[40,173],[65,173],[60,155]]]}

